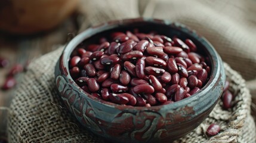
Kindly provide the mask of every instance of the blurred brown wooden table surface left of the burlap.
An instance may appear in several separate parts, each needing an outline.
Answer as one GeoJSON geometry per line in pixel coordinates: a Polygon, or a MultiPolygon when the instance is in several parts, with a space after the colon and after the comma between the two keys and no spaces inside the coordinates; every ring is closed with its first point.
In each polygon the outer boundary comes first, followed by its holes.
{"type": "MultiPolygon", "coordinates": [[[[41,55],[53,51],[58,45],[63,45],[69,38],[69,33],[76,33],[76,21],[68,18],[58,27],[45,33],[30,36],[7,35],[0,32],[0,57],[10,61],[7,67],[0,69],[0,87],[3,85],[8,71],[18,63],[25,65],[41,55]]],[[[23,73],[16,76],[17,86],[23,73]]],[[[0,136],[6,138],[7,113],[15,89],[3,91],[0,89],[0,136]]],[[[1,139],[0,138],[0,139],[1,139]]]]}

